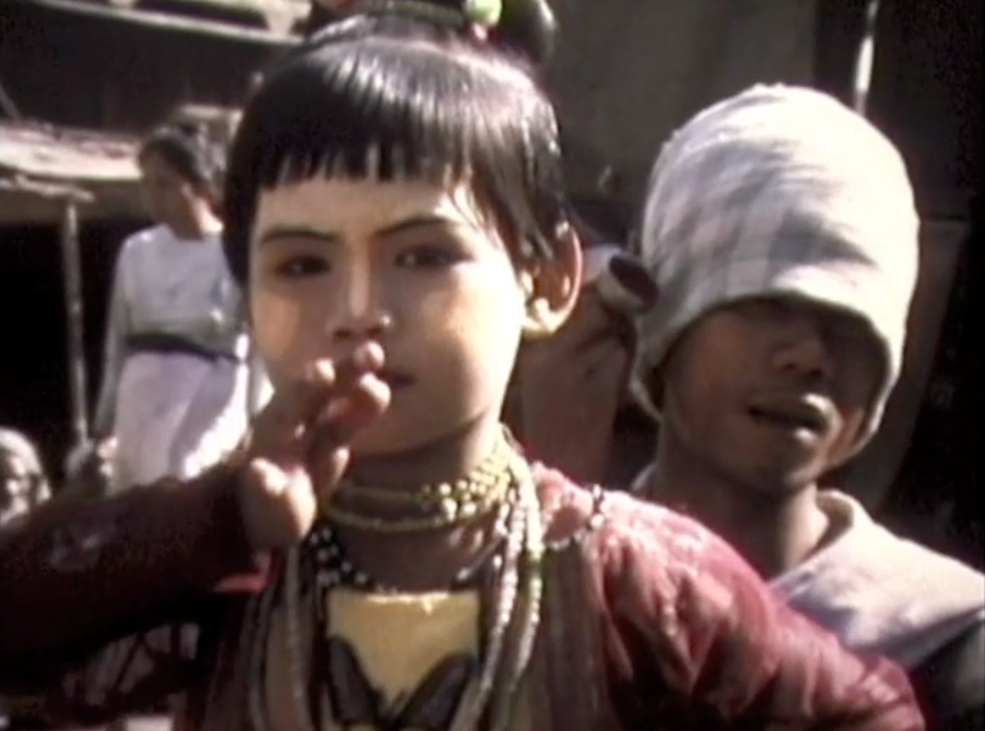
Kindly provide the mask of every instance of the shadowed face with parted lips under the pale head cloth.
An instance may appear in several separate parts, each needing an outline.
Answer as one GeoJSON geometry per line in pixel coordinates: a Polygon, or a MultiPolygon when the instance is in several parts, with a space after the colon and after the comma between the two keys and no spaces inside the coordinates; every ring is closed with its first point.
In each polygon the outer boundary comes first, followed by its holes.
{"type": "Polygon", "coordinates": [[[797,299],[743,300],[703,316],[672,351],[664,428],[726,480],[789,495],[851,454],[883,369],[861,319],[797,299]]]}

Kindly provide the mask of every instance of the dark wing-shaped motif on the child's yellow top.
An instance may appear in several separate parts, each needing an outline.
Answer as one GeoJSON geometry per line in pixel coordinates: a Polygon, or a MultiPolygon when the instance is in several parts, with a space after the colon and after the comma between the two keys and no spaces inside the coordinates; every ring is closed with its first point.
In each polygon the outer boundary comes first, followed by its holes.
{"type": "Polygon", "coordinates": [[[478,666],[471,655],[450,655],[409,697],[387,703],[366,678],[349,642],[329,637],[326,645],[327,690],[334,720],[343,731],[447,731],[478,666]]]}

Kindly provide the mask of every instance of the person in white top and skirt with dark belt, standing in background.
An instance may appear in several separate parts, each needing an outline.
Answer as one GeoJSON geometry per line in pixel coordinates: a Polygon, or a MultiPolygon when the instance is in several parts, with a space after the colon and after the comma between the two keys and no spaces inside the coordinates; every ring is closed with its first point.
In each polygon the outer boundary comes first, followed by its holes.
{"type": "Polygon", "coordinates": [[[180,128],[140,150],[157,225],[127,238],[116,262],[94,424],[114,491],[193,477],[246,430],[248,338],[214,208],[218,157],[180,128]]]}

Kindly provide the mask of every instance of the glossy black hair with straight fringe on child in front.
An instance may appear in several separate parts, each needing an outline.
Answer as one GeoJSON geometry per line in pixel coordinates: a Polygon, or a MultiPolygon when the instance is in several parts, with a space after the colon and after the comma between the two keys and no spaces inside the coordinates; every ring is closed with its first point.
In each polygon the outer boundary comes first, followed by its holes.
{"type": "Polygon", "coordinates": [[[480,42],[422,18],[361,14],[282,59],[248,101],[230,148],[223,218],[232,274],[246,279],[262,190],[333,174],[467,178],[514,259],[551,256],[567,221],[558,123],[535,80],[536,49],[525,56],[522,33],[509,37],[480,42]]]}

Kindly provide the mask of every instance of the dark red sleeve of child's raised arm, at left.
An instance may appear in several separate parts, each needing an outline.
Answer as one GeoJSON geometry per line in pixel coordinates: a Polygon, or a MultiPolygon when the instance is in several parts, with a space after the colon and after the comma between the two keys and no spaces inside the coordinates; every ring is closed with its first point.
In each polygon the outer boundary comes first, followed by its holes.
{"type": "Polygon", "coordinates": [[[194,626],[214,613],[217,593],[263,581],[231,467],[117,498],[54,501],[0,534],[0,691],[81,671],[130,635],[194,626]]]}

